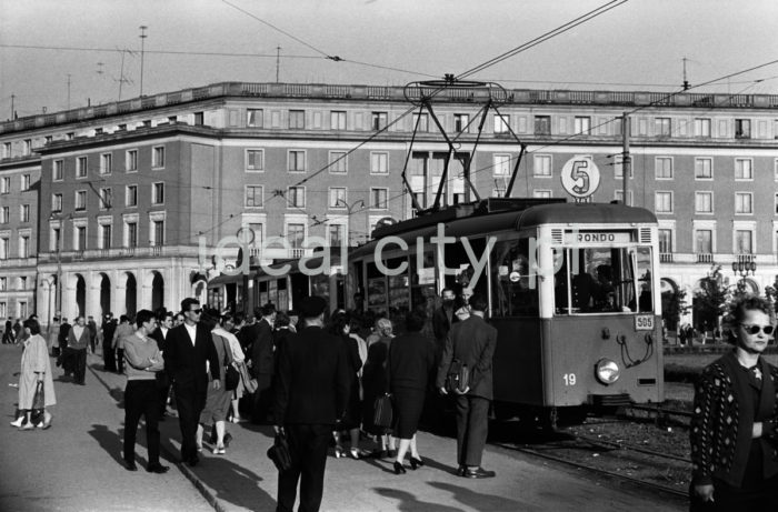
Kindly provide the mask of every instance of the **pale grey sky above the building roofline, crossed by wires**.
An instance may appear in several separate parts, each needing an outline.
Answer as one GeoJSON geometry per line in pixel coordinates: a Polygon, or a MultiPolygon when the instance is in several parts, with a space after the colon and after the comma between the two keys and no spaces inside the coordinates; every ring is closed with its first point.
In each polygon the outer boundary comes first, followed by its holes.
{"type": "MultiPolygon", "coordinates": [[[[606,4],[467,78],[669,92],[684,58],[692,87],[778,60],[776,0],[0,0],[0,120],[138,97],[141,60],[143,94],[459,77],[606,4]]],[[[696,91],[776,94],[778,62],[696,91]]]]}

